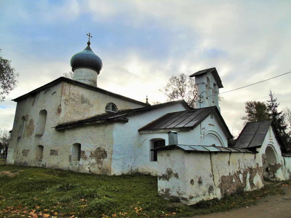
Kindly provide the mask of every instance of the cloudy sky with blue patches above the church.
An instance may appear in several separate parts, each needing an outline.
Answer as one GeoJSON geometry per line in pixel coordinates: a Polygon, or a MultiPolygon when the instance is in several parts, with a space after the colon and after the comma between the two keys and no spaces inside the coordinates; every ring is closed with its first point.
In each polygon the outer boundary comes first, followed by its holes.
{"type": "MultiPolygon", "coordinates": [[[[291,1],[0,0],[0,49],[19,73],[0,105],[0,128],[13,126],[16,97],[69,72],[87,46],[103,62],[98,87],[149,103],[172,76],[216,67],[227,92],[291,71],[291,1]]],[[[221,114],[234,135],[246,101],[291,107],[291,73],[222,94],[221,114]]]]}

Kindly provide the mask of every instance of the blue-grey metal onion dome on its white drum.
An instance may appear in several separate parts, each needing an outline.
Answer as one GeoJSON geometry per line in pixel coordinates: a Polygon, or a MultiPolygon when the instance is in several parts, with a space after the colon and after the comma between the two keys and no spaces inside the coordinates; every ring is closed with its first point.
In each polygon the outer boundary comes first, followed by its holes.
{"type": "Polygon", "coordinates": [[[94,54],[90,48],[90,42],[87,42],[88,46],[77,54],[74,54],[71,58],[71,67],[74,72],[77,68],[90,68],[97,71],[100,74],[100,70],[103,67],[102,60],[94,54]]]}

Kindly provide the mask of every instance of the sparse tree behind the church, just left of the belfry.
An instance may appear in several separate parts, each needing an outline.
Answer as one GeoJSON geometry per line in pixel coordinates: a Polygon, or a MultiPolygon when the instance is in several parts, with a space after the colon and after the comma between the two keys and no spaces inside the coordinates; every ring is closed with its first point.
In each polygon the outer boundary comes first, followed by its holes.
{"type": "Polygon", "coordinates": [[[185,74],[171,76],[167,84],[159,89],[166,97],[167,101],[184,99],[192,108],[196,107],[197,86],[193,78],[185,74]]]}

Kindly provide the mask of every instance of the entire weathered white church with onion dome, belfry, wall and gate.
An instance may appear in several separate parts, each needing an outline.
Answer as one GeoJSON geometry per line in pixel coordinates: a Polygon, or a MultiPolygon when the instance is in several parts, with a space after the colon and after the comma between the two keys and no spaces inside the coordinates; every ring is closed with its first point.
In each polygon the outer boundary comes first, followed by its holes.
{"type": "Polygon", "coordinates": [[[184,100],[151,106],[98,88],[102,61],[87,44],[71,58],[73,80],[60,77],[13,100],[8,164],[157,175],[161,196],[188,205],[261,188],[264,177],[290,179],[291,157],[272,121],[247,124],[229,146],[215,68],[190,75],[204,96],[196,109],[184,100]]]}

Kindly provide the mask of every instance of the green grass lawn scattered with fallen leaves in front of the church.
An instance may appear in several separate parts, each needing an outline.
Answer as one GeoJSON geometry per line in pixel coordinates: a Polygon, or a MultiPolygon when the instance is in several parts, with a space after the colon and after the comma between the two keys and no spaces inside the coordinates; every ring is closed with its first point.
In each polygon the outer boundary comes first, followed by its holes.
{"type": "Polygon", "coordinates": [[[104,176],[8,165],[0,166],[0,217],[191,216],[251,206],[268,194],[283,194],[274,184],[194,206],[168,207],[173,201],[158,196],[155,176],[104,176]]]}

